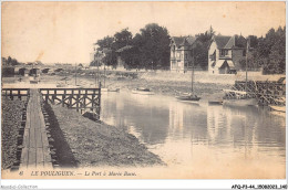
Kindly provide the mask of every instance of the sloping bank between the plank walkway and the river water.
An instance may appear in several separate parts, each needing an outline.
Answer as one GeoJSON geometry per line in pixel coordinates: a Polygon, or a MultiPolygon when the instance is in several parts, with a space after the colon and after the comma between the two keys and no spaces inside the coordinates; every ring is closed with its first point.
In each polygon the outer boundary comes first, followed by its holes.
{"type": "Polygon", "coordinates": [[[72,109],[52,105],[52,110],[78,167],[164,165],[133,135],[92,122],[72,109]]]}

